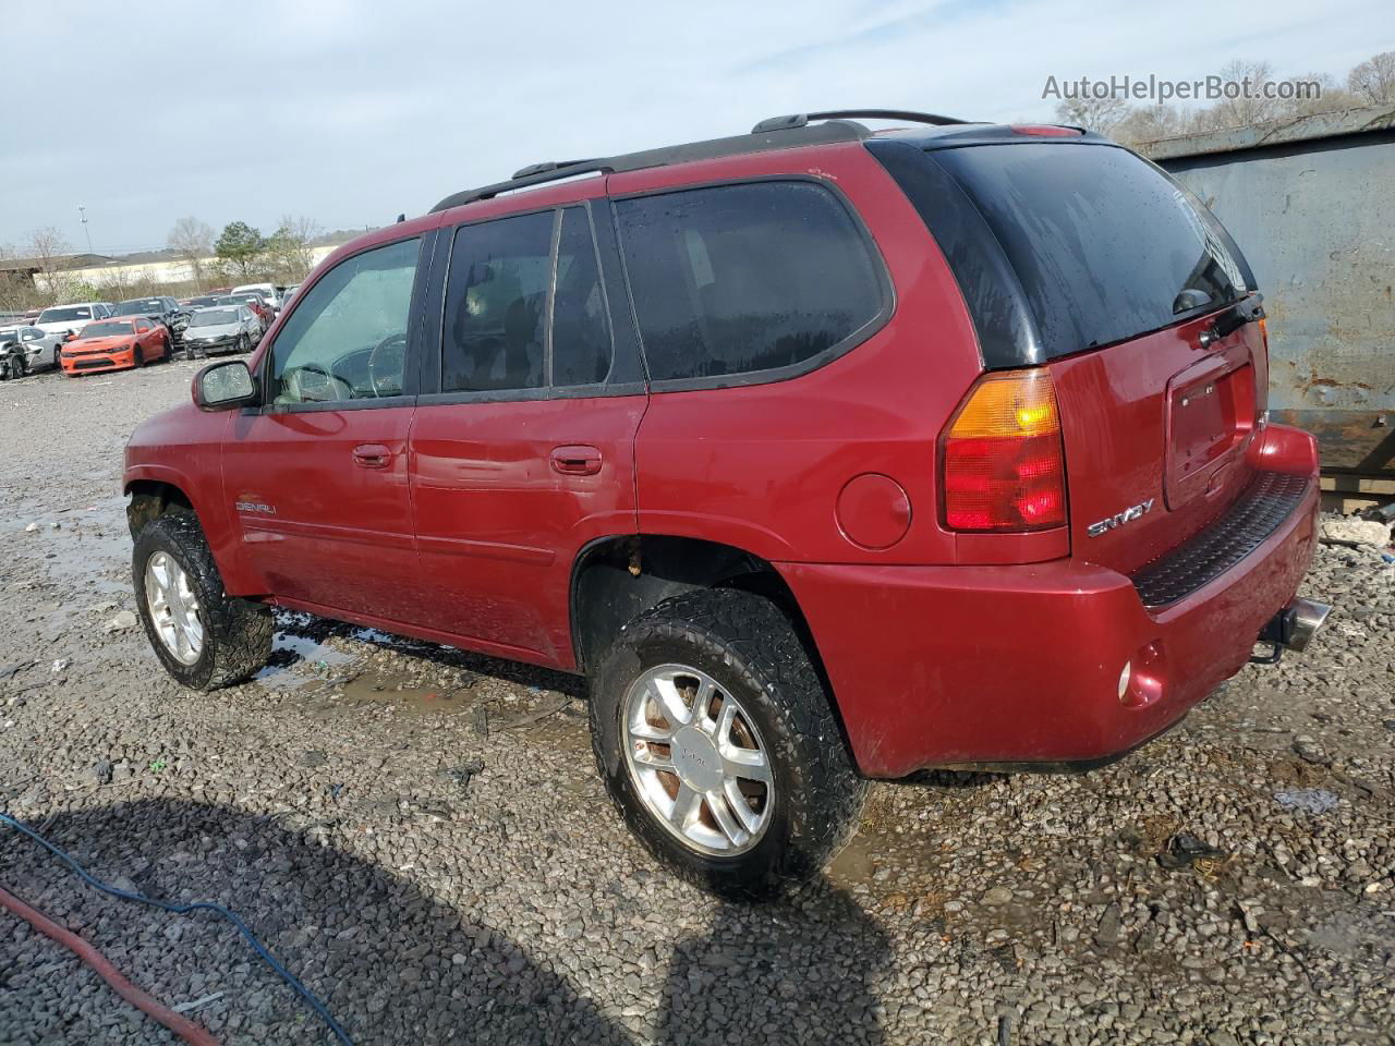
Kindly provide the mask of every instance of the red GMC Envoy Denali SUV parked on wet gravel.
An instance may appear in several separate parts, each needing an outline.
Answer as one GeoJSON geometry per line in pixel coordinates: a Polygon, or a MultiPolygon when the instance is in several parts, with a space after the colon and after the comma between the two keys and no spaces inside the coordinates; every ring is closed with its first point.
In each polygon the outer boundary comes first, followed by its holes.
{"type": "Polygon", "coordinates": [[[273,605],[585,672],[635,833],[760,891],[866,778],[1116,756],[1307,643],[1262,318],[1207,208],[1074,128],[537,165],[342,247],[137,430],[141,614],[202,689],[273,605]]]}

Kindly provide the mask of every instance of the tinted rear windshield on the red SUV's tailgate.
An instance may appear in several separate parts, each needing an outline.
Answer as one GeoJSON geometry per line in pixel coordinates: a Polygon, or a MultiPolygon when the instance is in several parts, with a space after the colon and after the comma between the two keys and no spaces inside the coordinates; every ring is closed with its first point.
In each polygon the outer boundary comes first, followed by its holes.
{"type": "Polygon", "coordinates": [[[1156,331],[1246,293],[1219,222],[1124,149],[1017,144],[932,156],[1007,255],[1046,358],[1156,331]]]}

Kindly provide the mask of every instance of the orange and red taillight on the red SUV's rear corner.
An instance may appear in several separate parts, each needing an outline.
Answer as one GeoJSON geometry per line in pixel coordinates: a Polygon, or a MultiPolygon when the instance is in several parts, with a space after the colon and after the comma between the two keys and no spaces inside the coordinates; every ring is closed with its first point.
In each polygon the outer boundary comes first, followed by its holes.
{"type": "Polygon", "coordinates": [[[944,524],[1046,530],[1066,524],[1066,453],[1050,374],[989,374],[940,438],[944,524]]]}

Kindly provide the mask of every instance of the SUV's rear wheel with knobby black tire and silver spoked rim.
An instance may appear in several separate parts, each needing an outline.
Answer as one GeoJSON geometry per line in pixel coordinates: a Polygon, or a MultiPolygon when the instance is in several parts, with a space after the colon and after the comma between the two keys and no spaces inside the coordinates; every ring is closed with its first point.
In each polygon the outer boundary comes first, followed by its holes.
{"type": "Polygon", "coordinates": [[[590,714],[631,830],[718,895],[766,897],[808,879],[857,828],[868,785],[799,636],[769,600],[698,590],[639,615],[593,678],[590,714]]]}

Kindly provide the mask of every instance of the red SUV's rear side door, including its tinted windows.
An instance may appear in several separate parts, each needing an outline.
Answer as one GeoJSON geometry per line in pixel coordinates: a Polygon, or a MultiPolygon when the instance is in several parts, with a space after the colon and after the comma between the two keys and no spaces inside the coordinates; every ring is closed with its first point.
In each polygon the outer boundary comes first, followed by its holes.
{"type": "Polygon", "coordinates": [[[636,531],[647,402],[604,198],[442,230],[441,328],[412,428],[430,625],[572,664],[572,565],[636,531]]]}

